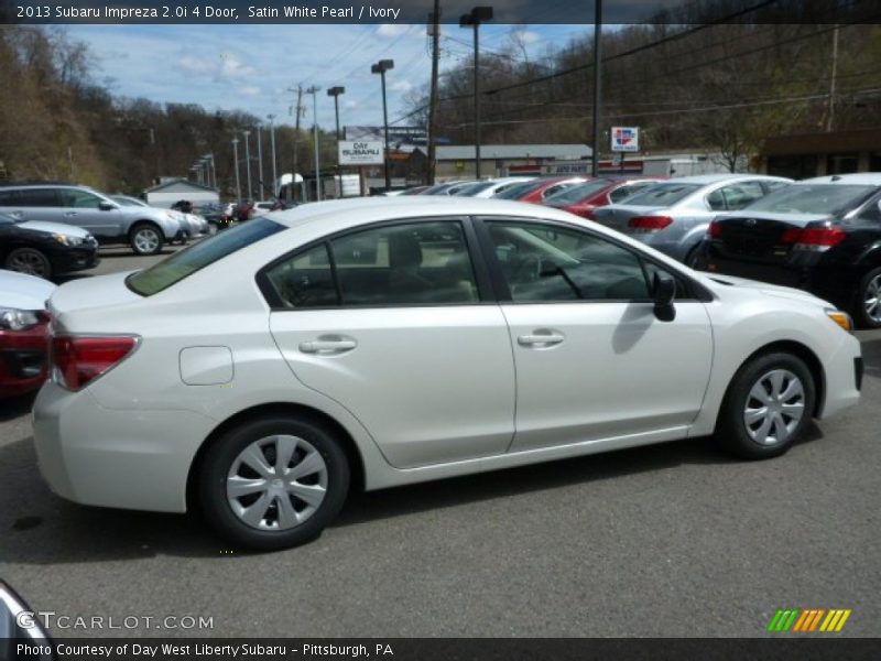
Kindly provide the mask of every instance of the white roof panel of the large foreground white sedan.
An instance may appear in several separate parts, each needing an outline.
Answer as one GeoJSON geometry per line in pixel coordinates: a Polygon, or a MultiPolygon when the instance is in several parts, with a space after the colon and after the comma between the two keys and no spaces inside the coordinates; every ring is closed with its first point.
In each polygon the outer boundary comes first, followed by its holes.
{"type": "Polygon", "coordinates": [[[328,217],[346,217],[347,227],[358,227],[376,220],[420,218],[426,216],[511,216],[546,217],[572,223],[576,218],[565,212],[550,207],[525,205],[520,202],[481,197],[421,196],[404,197],[355,197],[302,204],[293,209],[272,212],[264,218],[287,227],[324,220],[328,217]],[[539,212],[539,213],[536,213],[539,212]]]}

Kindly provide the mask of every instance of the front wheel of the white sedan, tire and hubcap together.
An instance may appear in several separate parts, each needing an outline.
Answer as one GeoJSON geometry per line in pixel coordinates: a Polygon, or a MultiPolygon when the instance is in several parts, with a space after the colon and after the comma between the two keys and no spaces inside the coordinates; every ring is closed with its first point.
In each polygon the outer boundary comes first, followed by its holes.
{"type": "Polygon", "coordinates": [[[816,387],[804,361],[785,353],[750,360],[725,395],[716,436],[732,454],[763,459],[785,453],[811,421],[816,387]]]}

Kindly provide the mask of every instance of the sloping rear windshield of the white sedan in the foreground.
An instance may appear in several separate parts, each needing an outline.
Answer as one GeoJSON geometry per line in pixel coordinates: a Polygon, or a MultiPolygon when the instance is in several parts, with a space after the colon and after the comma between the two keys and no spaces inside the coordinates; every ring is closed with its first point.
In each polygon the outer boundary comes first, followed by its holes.
{"type": "Polygon", "coordinates": [[[126,279],[126,284],[135,294],[152,296],[199,269],[204,269],[208,264],[213,264],[217,260],[232,254],[246,246],[271,237],[283,229],[285,229],[284,225],[269,220],[265,217],[248,220],[243,225],[218,232],[198,243],[193,243],[149,269],[132,273],[126,279]]]}

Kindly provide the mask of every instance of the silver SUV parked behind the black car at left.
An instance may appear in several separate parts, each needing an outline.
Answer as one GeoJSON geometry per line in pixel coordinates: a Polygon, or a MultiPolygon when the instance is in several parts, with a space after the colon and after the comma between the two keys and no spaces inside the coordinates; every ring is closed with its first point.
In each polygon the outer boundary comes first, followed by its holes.
{"type": "Polygon", "coordinates": [[[174,212],[123,206],[87,186],[0,185],[0,212],[25,220],[81,227],[102,243],[129,243],[137,254],[155,254],[183,236],[174,212]]]}

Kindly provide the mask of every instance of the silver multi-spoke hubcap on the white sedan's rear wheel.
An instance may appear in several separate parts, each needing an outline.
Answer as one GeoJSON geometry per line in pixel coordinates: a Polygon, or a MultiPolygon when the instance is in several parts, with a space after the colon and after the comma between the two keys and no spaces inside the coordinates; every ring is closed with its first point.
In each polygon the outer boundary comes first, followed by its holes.
{"type": "Polygon", "coordinates": [[[227,501],[251,528],[287,530],[312,517],[327,495],[327,464],[298,436],[267,436],[246,447],[227,475],[227,501]]]}

